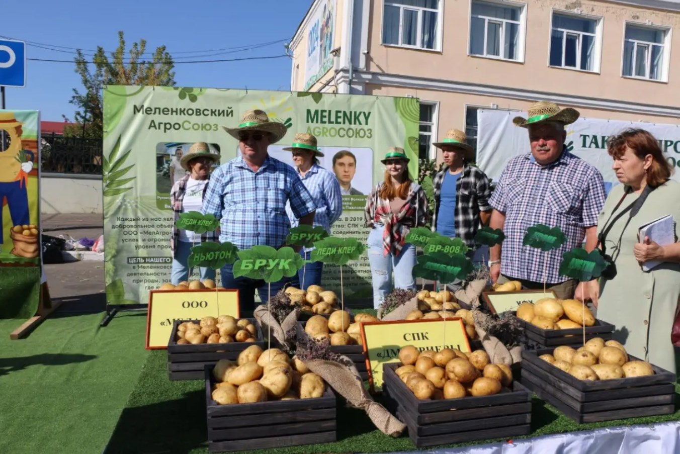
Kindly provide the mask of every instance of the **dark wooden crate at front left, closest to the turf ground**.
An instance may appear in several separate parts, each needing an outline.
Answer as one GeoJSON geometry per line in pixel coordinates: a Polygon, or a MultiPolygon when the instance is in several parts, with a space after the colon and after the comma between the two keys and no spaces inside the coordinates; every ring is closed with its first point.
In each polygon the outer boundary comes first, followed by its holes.
{"type": "Polygon", "coordinates": [[[205,366],[205,404],[211,453],[277,449],[299,444],[334,442],[336,398],[326,385],[317,399],[218,405],[212,400],[214,366],[205,366]]]}

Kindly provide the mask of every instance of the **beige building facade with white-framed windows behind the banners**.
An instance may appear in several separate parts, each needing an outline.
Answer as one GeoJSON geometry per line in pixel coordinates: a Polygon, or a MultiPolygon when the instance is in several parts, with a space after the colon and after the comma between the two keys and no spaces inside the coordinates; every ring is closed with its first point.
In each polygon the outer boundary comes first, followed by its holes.
{"type": "Polygon", "coordinates": [[[313,0],[291,90],[420,99],[421,158],[448,128],[474,142],[477,109],[541,99],[677,124],[678,29],[678,0],[313,0]]]}

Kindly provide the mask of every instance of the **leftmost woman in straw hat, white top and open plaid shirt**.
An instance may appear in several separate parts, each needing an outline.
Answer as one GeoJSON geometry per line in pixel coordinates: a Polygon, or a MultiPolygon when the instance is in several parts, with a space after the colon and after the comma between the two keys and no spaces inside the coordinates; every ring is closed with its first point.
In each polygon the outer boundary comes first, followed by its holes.
{"type": "MultiPolygon", "coordinates": [[[[170,191],[170,204],[175,211],[175,222],[182,213],[201,211],[211,168],[219,160],[220,156],[212,153],[205,142],[194,143],[189,151],[182,156],[180,165],[188,173],[175,182],[170,191]]],[[[191,254],[191,248],[203,241],[217,241],[215,232],[206,232],[201,235],[173,226],[171,282],[174,285],[189,279],[191,270],[188,266],[188,258],[191,254]]],[[[201,280],[204,279],[215,279],[215,270],[201,268],[201,280]]]]}

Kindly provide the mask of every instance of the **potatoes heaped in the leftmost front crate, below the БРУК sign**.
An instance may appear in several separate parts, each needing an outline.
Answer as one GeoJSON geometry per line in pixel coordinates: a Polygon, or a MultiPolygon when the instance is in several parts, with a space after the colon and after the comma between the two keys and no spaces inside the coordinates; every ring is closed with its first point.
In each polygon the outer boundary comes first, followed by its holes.
{"type": "Polygon", "coordinates": [[[213,377],[212,398],[220,405],[313,399],[326,391],[324,380],[297,357],[290,360],[279,349],[262,351],[258,345],[241,351],[237,362],[218,361],[213,377]]]}

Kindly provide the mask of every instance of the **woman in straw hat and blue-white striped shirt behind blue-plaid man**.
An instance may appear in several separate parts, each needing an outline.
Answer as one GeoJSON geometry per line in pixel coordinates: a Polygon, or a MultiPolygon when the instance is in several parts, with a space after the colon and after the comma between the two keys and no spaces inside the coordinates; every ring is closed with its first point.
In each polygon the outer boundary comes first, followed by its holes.
{"type": "MultiPolygon", "coordinates": [[[[297,168],[297,173],[316,203],[316,214],[314,215],[313,226],[320,226],[328,234],[331,226],[342,214],[342,195],[340,194],[340,184],[335,175],[319,165],[319,158],[324,154],[319,151],[316,137],[307,133],[297,133],[290,147],[284,148],[287,152],[292,152],[293,162],[297,168]]],[[[286,206],[286,213],[290,218],[290,226],[296,227],[299,220],[286,206]]],[[[300,254],[304,260],[309,260],[313,248],[303,247],[300,254]]],[[[322,262],[312,262],[305,266],[305,270],[298,273],[299,282],[294,285],[306,289],[309,285],[321,285],[321,274],[324,269],[322,262]],[[297,285],[299,284],[299,285],[297,285]]]]}

